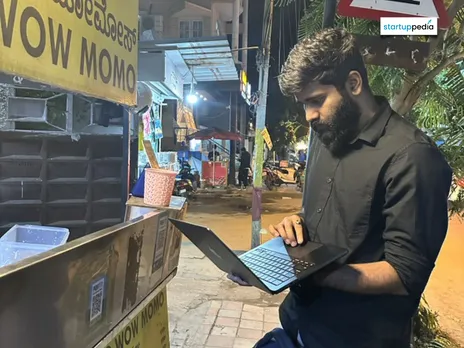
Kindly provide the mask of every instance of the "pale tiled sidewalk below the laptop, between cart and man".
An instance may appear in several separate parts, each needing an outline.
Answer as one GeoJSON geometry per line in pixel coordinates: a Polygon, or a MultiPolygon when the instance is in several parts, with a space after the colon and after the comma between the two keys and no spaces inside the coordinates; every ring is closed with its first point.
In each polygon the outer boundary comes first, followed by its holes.
{"type": "Polygon", "coordinates": [[[280,326],[284,297],[235,285],[194,245],[183,243],[177,276],[168,285],[171,347],[251,348],[280,326]]]}

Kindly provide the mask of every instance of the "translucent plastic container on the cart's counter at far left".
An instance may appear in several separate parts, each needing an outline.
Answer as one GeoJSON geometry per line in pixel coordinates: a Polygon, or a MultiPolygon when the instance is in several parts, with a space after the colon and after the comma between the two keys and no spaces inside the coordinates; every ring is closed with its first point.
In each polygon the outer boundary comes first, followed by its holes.
{"type": "Polygon", "coordinates": [[[15,225],[0,237],[0,267],[63,245],[68,237],[67,228],[15,225]]]}

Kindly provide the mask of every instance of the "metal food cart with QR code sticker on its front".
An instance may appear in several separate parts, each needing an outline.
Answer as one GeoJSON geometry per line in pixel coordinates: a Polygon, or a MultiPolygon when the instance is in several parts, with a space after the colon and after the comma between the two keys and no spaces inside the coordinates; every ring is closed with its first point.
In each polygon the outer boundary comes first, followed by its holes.
{"type": "Polygon", "coordinates": [[[0,347],[169,347],[184,201],[0,269],[0,347]]]}

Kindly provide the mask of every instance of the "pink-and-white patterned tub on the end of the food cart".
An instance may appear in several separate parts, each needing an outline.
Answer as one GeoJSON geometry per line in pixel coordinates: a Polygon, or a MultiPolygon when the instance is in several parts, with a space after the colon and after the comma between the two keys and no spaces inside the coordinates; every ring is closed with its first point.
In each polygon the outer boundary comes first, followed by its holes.
{"type": "Polygon", "coordinates": [[[145,169],[143,202],[149,205],[169,206],[176,175],[176,172],[165,169],[145,169]]]}

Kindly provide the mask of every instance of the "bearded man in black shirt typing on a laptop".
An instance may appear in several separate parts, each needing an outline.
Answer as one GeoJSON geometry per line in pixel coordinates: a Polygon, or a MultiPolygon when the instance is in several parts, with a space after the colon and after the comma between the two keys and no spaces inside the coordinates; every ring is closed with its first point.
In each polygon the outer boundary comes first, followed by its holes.
{"type": "Polygon", "coordinates": [[[435,144],[369,88],[354,37],[324,30],[299,43],[279,77],[316,137],[303,210],[270,226],[297,247],[349,250],[291,289],[287,334],[308,348],[406,348],[411,318],[444,241],[451,169],[435,144]]]}

